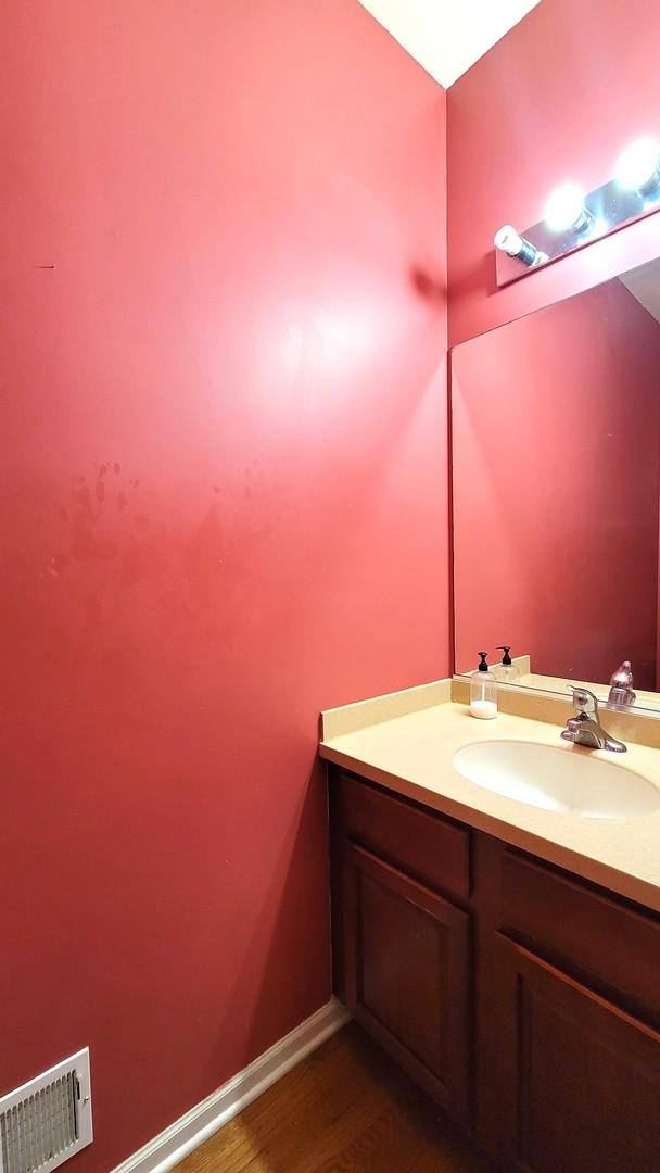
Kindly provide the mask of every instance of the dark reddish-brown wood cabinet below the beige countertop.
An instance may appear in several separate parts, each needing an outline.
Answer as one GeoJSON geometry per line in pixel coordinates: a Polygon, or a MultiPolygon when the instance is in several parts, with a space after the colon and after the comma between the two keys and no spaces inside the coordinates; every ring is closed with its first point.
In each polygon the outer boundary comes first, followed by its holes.
{"type": "Polygon", "coordinates": [[[339,769],[331,830],[365,1029],[499,1168],[658,1173],[660,917],[339,769]]]}

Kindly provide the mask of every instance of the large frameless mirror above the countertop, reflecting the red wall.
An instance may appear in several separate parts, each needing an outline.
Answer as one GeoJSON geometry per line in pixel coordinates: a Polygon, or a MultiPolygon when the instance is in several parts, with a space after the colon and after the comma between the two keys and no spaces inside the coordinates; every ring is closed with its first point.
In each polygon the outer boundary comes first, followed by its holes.
{"type": "Polygon", "coordinates": [[[606,697],[630,659],[660,707],[660,259],[458,346],[451,400],[456,672],[511,644],[606,697]]]}

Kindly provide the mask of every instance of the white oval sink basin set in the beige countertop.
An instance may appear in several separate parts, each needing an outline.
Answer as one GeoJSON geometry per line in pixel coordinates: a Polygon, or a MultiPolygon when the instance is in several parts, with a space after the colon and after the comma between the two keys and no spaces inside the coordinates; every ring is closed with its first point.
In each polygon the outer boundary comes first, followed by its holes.
{"type": "Polygon", "coordinates": [[[468,781],[542,811],[588,819],[630,819],[660,808],[660,789],[625,766],[532,741],[477,741],[457,750],[468,781]]]}

